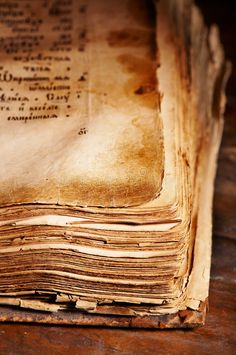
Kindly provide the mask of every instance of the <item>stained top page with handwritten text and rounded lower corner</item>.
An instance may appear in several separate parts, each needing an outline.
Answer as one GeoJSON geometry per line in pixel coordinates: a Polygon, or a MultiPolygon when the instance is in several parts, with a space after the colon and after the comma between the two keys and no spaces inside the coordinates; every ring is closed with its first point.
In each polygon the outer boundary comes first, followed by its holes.
{"type": "Polygon", "coordinates": [[[164,154],[150,4],[0,0],[2,205],[122,207],[157,196],[164,154]]]}

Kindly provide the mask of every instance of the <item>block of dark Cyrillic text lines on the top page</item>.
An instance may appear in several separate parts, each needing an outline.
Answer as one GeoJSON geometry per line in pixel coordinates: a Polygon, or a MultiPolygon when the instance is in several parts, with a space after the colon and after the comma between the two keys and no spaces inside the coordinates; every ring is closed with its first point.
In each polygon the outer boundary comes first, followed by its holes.
{"type": "Polygon", "coordinates": [[[1,120],[78,117],[88,79],[85,26],[86,1],[0,1],[1,120]]]}

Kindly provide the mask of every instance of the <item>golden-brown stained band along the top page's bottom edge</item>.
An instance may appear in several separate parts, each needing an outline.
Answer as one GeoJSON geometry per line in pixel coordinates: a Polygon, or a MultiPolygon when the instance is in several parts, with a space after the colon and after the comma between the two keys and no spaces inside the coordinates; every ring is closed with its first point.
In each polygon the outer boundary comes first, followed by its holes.
{"type": "Polygon", "coordinates": [[[150,181],[127,179],[111,183],[100,179],[83,181],[79,177],[65,181],[42,181],[38,186],[19,186],[9,194],[1,193],[2,205],[43,203],[68,206],[125,207],[153,198],[156,189],[150,181]],[[60,196],[60,197],[59,197],[60,196]]]}

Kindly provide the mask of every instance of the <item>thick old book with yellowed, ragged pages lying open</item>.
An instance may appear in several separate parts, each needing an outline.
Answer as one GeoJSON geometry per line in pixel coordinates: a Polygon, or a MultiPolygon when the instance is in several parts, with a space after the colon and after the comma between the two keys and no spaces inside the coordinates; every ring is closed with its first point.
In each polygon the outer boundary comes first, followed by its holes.
{"type": "Polygon", "coordinates": [[[0,319],[202,324],[217,27],[191,0],[0,0],[0,30],[0,319]]]}

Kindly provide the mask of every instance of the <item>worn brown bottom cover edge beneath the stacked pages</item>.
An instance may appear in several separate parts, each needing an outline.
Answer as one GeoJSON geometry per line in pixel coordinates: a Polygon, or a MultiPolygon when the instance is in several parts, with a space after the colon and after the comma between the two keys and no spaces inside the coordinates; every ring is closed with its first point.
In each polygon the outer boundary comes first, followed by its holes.
{"type": "Polygon", "coordinates": [[[1,322],[64,324],[80,326],[104,326],[121,328],[196,328],[204,325],[207,302],[201,304],[199,310],[186,309],[175,314],[156,316],[121,316],[105,314],[86,314],[81,311],[37,312],[34,310],[0,308],[1,322]]]}

